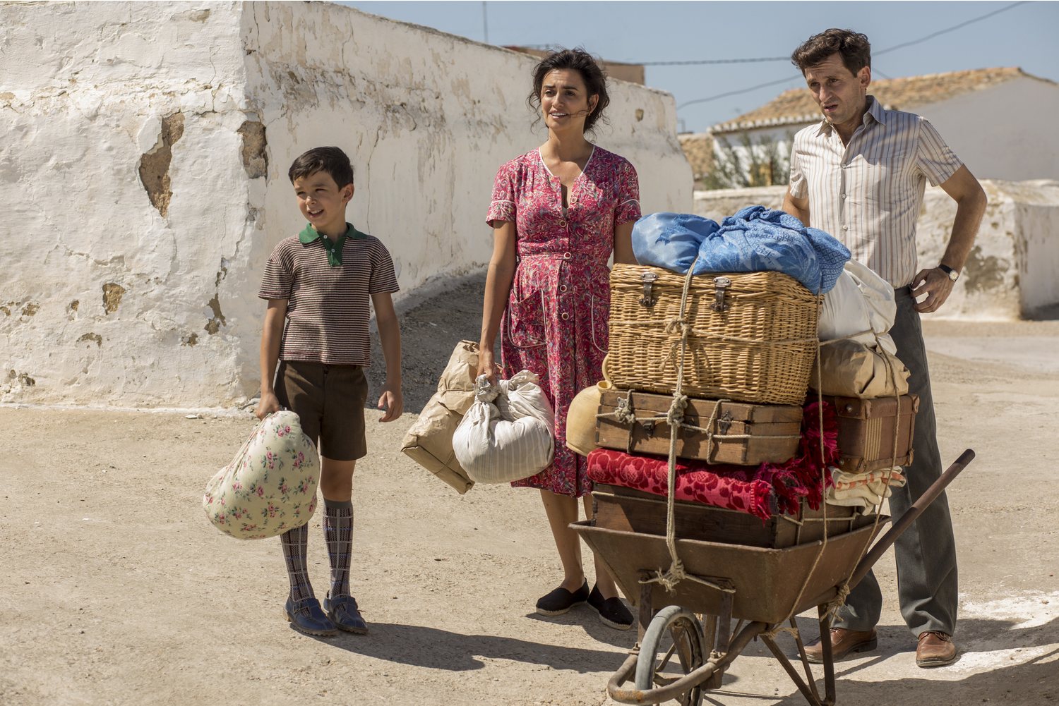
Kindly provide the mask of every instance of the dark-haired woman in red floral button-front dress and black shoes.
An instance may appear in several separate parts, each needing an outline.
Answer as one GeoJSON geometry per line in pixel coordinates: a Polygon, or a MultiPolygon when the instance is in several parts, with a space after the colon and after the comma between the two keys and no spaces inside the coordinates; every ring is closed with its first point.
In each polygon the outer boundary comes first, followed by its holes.
{"type": "Polygon", "coordinates": [[[497,173],[479,375],[495,378],[492,347],[501,331],[504,376],[536,373],[555,408],[555,460],[511,484],[540,489],[562,562],[562,582],[537,601],[537,612],[561,615],[588,602],[605,623],[627,630],[632,615],[604,565],[596,560],[592,591],[585,578],[580,542],[569,525],[578,519],[578,497],[591,517],[592,482],[585,457],[567,449],[566,431],[571,400],[603,379],[607,261],[613,251],[615,263],[635,263],[640,187],[631,164],[585,138],[610,103],[606,77],[588,53],[564,50],[538,64],[528,102],[540,110],[548,142],[497,173]]]}

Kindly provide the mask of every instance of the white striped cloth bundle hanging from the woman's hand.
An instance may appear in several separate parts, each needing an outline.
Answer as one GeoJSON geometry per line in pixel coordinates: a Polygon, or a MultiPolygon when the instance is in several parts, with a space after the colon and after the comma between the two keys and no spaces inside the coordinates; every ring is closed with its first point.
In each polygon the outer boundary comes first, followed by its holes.
{"type": "Polygon", "coordinates": [[[508,483],[552,463],[555,413],[538,377],[522,370],[509,380],[475,383],[474,403],[452,435],[456,460],[475,483],[508,483]]]}

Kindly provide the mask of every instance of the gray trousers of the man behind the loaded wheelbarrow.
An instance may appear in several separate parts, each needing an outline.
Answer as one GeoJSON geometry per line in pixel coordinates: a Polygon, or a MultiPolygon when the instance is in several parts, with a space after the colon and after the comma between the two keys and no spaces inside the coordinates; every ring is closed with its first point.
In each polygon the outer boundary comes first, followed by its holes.
{"type": "MultiPolygon", "coordinates": [[[[907,287],[897,290],[897,319],[890,334],[897,344],[897,357],[912,375],[909,392],[919,396],[913,435],[912,465],[904,468],[907,483],[894,488],[890,499],[896,522],[927,488],[941,475],[937,449],[934,399],[927,369],[919,313],[907,287]]],[[[956,627],[956,543],[952,536],[949,503],[943,494],[902,533],[894,545],[897,559],[897,596],[901,615],[912,634],[928,630],[953,634],[956,627]]],[[[882,592],[874,574],[864,577],[850,592],[834,621],[837,628],[870,630],[882,612],[882,592]]]]}

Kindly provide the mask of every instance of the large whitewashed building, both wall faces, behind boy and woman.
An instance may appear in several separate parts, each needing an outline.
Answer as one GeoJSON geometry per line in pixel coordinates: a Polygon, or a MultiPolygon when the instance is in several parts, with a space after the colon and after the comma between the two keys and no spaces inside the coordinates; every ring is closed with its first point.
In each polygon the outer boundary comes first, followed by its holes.
{"type": "MultiPolygon", "coordinates": [[[[485,264],[493,174],[544,138],[532,58],[336,4],[0,2],[0,402],[238,403],[298,153],[349,153],[407,294],[485,264]]],[[[671,96],[615,82],[609,114],[644,209],[690,207],[671,96]]]]}

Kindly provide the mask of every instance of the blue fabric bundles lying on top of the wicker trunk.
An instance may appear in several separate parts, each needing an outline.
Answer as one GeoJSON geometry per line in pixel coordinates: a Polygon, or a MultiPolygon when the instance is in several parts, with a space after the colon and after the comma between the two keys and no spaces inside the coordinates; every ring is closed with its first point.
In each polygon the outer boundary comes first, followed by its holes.
{"type": "Polygon", "coordinates": [[[783,272],[816,294],[834,287],[849,259],[849,250],[831,235],[760,205],[747,206],[720,225],[690,214],[649,214],[632,228],[632,252],[641,265],[680,274],[692,263],[697,275],[783,272]]]}

